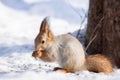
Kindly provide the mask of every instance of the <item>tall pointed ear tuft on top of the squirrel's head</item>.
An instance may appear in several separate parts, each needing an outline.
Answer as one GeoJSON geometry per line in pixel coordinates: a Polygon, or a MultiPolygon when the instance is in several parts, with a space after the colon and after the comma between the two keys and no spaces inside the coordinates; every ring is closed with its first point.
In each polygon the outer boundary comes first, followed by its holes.
{"type": "Polygon", "coordinates": [[[44,18],[44,20],[42,21],[41,23],[41,26],[40,26],[40,34],[42,33],[48,33],[49,31],[49,21],[48,21],[48,17],[44,18]]]}

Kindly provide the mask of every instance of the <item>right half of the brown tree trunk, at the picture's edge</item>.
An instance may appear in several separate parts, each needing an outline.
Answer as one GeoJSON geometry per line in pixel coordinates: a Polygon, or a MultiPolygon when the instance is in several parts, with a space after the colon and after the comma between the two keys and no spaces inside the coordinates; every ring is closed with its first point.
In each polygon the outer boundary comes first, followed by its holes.
{"type": "Polygon", "coordinates": [[[103,54],[120,68],[120,0],[104,1],[103,54]]]}

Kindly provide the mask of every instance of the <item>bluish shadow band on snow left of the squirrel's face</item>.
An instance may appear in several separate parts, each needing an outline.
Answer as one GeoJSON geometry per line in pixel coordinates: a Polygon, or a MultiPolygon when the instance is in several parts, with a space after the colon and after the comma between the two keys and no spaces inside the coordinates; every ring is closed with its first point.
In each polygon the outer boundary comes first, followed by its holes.
{"type": "Polygon", "coordinates": [[[34,46],[31,44],[24,44],[24,45],[3,45],[0,44],[0,56],[10,55],[12,53],[29,53],[33,51],[34,46]]]}

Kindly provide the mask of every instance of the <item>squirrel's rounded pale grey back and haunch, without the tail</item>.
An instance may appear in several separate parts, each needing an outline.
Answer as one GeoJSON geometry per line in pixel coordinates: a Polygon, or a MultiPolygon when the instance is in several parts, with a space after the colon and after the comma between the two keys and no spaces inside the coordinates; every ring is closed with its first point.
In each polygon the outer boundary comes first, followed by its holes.
{"type": "Polygon", "coordinates": [[[72,71],[84,70],[85,53],[82,44],[72,35],[64,34],[55,38],[59,43],[59,64],[72,71]]]}

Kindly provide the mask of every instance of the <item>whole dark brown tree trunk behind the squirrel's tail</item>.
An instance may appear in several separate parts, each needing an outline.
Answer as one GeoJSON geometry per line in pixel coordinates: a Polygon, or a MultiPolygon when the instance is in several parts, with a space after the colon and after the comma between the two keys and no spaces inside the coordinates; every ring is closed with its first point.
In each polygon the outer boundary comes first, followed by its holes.
{"type": "Polygon", "coordinates": [[[90,0],[86,45],[96,34],[87,52],[102,53],[120,68],[120,0],[90,0]]]}

